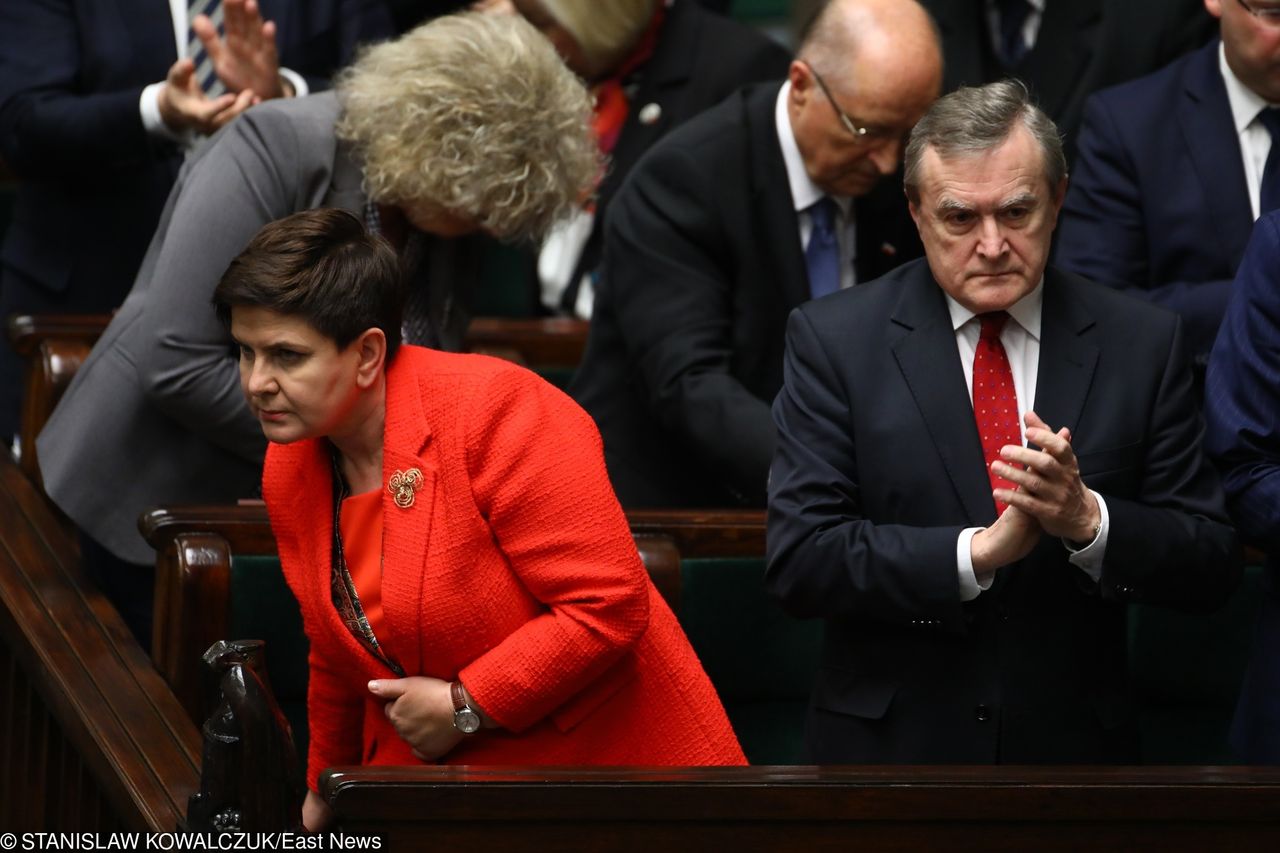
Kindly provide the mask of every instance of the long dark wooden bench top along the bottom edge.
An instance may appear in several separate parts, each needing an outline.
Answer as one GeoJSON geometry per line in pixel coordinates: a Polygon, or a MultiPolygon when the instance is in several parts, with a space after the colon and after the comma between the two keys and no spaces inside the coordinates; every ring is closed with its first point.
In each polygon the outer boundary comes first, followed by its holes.
{"type": "Polygon", "coordinates": [[[338,767],[385,849],[1274,850],[1280,768],[338,767]]]}

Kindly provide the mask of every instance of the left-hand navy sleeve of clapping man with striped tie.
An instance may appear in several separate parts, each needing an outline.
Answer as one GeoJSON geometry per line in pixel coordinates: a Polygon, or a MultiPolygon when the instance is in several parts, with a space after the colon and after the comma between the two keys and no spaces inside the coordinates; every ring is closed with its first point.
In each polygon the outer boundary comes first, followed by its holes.
{"type": "MultiPolygon", "coordinates": [[[[83,67],[83,37],[69,0],[0,3],[0,156],[22,178],[100,179],[173,150],[142,127],[142,85],[86,91],[92,70],[83,67]]],[[[156,60],[155,81],[172,61],[156,60]]],[[[125,68],[99,73],[131,76],[125,68]]]]}

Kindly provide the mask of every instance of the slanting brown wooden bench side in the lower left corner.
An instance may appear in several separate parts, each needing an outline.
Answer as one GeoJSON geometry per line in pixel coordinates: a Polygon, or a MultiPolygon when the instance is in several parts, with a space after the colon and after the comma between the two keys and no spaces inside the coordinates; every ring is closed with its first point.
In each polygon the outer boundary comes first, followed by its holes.
{"type": "Polygon", "coordinates": [[[0,827],[172,831],[200,752],[59,519],[0,453],[0,827]]]}

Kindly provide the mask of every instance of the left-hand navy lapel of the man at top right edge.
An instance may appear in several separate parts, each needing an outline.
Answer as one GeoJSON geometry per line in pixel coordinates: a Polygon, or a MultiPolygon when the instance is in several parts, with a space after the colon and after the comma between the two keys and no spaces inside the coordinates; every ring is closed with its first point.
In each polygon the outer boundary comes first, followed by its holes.
{"type": "Polygon", "coordinates": [[[1253,207],[1235,119],[1219,70],[1219,44],[1213,40],[1187,64],[1178,124],[1201,184],[1201,200],[1217,229],[1217,245],[1225,247],[1235,266],[1253,229],[1253,207]]]}

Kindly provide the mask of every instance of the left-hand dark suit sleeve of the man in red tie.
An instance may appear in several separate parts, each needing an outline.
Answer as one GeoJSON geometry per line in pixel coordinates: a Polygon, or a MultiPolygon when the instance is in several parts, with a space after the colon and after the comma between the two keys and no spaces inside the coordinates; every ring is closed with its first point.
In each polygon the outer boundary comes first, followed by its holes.
{"type": "Polygon", "coordinates": [[[959,625],[961,528],[874,524],[863,515],[850,412],[868,401],[847,398],[838,371],[849,365],[827,353],[805,307],[791,313],[783,368],[773,402],[769,593],[796,616],[959,625]]]}

